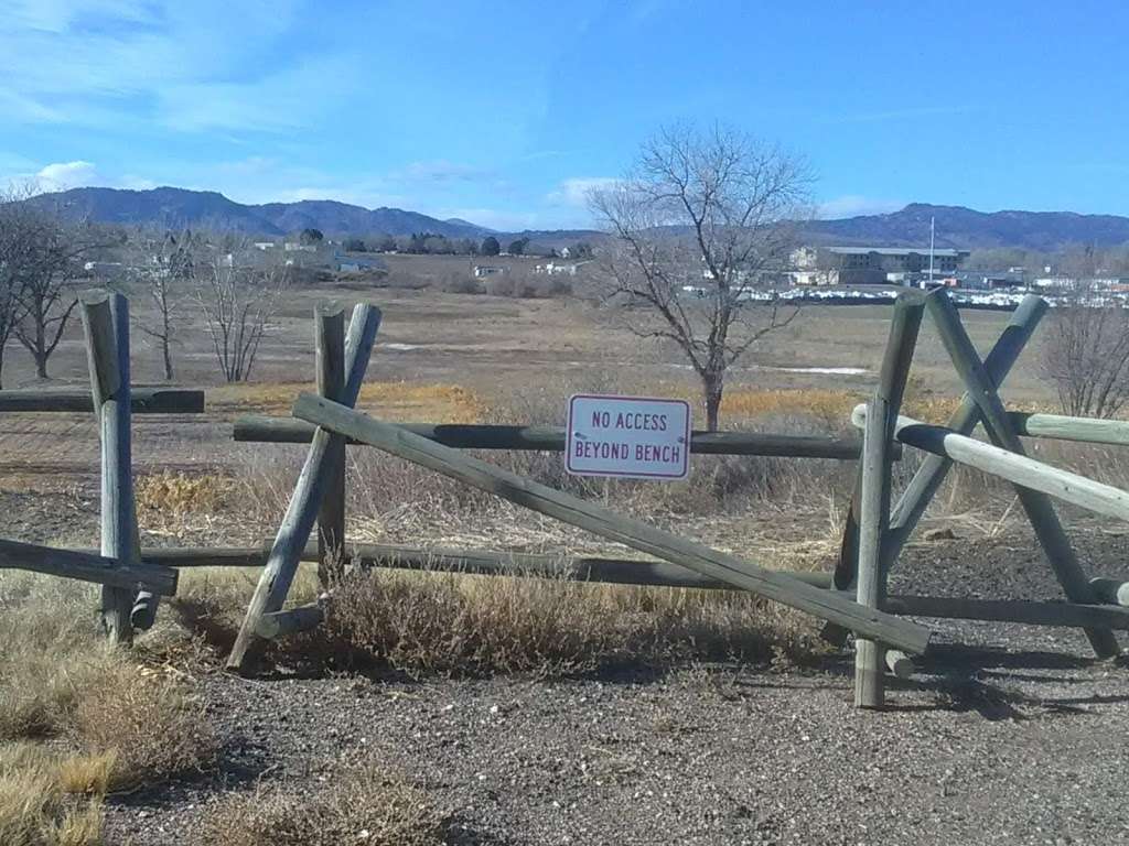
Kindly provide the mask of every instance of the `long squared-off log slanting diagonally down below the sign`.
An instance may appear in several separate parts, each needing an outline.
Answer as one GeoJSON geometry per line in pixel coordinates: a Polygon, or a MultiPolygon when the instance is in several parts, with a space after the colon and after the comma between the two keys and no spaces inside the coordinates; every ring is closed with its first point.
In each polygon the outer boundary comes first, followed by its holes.
{"type": "Polygon", "coordinates": [[[295,416],[639,552],[784,602],[822,619],[840,623],[857,634],[899,646],[907,652],[920,653],[928,645],[929,633],[919,626],[907,627],[901,620],[863,608],[833,591],[813,588],[641,521],[621,517],[449,447],[375,421],[347,406],[304,394],[295,404],[295,416]]]}

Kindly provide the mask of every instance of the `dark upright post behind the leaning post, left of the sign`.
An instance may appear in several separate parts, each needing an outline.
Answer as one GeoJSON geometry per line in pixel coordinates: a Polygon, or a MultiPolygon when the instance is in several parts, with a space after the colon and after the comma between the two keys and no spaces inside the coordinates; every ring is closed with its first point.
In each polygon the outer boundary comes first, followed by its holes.
{"type": "MultiPolygon", "coordinates": [[[[345,310],[340,302],[326,302],[314,310],[317,342],[317,393],[334,403],[344,400],[345,310]]],[[[330,437],[325,451],[325,494],[317,512],[317,579],[327,588],[331,575],[344,564],[345,543],[345,439],[330,437]]]]}

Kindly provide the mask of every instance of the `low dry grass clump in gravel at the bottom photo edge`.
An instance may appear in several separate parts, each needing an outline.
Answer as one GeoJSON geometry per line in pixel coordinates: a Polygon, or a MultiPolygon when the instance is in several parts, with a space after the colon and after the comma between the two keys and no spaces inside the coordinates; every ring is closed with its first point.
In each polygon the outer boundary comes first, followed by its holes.
{"type": "Polygon", "coordinates": [[[443,846],[446,814],[428,794],[380,766],[306,784],[233,794],[204,820],[203,846],[443,846]]]}

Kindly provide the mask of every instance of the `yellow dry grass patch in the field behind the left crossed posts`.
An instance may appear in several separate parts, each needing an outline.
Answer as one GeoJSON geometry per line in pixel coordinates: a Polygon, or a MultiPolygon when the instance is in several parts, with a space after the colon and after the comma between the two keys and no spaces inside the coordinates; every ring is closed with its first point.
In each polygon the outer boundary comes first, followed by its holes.
{"type": "MultiPolygon", "coordinates": [[[[226,385],[208,391],[208,411],[219,414],[289,414],[303,391],[313,391],[309,382],[226,385]]],[[[357,407],[385,420],[429,423],[476,423],[487,405],[474,391],[460,385],[415,382],[374,382],[361,386],[357,407]]]]}

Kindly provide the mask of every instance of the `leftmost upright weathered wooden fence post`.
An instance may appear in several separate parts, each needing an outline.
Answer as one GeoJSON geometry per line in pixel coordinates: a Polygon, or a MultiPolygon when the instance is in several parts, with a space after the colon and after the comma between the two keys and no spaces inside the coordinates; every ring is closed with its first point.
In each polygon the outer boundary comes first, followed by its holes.
{"type": "MultiPolygon", "coordinates": [[[[81,298],[81,315],[102,441],[102,555],[139,564],[130,442],[129,301],[120,293],[88,292],[81,298]]],[[[102,589],[102,624],[113,643],[133,641],[130,618],[135,596],[133,588],[102,589]]]]}

